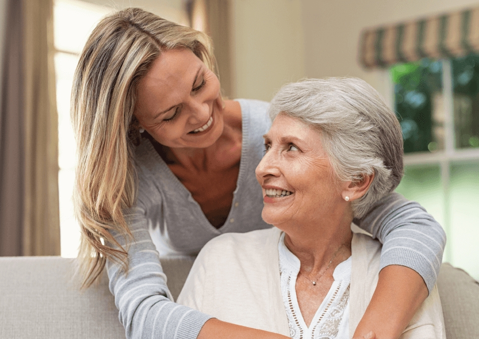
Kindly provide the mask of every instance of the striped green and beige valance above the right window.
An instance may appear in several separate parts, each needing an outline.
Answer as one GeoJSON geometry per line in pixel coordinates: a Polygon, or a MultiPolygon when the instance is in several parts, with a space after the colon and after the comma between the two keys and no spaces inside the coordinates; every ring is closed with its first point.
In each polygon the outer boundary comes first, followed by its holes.
{"type": "Polygon", "coordinates": [[[366,68],[479,53],[479,8],[368,29],[359,44],[366,68]]]}

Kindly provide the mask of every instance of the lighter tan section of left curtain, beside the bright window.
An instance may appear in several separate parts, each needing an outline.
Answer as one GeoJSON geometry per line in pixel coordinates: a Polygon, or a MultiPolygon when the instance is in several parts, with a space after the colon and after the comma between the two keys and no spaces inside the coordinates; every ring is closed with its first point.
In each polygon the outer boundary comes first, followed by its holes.
{"type": "Polygon", "coordinates": [[[24,255],[60,255],[53,1],[24,1],[24,255]]]}

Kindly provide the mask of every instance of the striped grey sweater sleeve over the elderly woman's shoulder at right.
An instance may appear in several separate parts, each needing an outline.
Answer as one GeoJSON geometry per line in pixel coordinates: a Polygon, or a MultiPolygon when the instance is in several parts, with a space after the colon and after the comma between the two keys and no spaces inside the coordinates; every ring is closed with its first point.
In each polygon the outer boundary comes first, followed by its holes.
{"type": "Polygon", "coordinates": [[[383,244],[381,269],[388,265],[412,268],[431,291],[439,273],[446,237],[439,223],[421,205],[393,192],[354,223],[383,244]]]}

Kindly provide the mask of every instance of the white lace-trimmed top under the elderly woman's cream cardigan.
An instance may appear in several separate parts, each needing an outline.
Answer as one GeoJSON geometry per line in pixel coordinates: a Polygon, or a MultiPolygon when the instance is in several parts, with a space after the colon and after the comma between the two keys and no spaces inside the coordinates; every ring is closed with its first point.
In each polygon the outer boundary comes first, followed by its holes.
{"type": "Polygon", "coordinates": [[[300,262],[284,244],[284,232],[279,239],[278,250],[281,294],[288,316],[289,336],[293,339],[347,339],[351,257],[334,269],[334,282],[308,327],[299,310],[295,288],[300,262]]]}

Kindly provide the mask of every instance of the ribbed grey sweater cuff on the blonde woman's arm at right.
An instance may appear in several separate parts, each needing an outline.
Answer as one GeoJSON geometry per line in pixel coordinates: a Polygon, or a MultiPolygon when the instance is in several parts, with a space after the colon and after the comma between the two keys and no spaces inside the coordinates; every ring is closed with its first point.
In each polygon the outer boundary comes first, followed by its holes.
{"type": "Polygon", "coordinates": [[[404,247],[392,247],[381,252],[380,269],[389,265],[401,265],[415,270],[426,283],[429,293],[439,273],[439,267],[436,271],[423,254],[404,247]]]}

